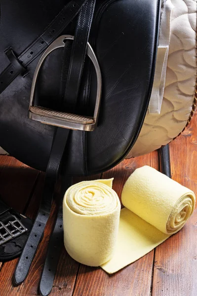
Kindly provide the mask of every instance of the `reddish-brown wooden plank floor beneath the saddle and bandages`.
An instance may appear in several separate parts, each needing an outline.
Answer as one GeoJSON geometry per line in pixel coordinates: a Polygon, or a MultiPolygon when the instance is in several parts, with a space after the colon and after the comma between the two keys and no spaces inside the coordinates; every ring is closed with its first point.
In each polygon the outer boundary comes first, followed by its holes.
{"type": "MultiPolygon", "coordinates": [[[[197,193],[197,115],[188,129],[170,144],[172,178],[197,193]]],[[[125,160],[92,178],[114,177],[122,186],[137,167],[158,169],[158,152],[125,160]]],[[[9,156],[0,156],[0,195],[13,208],[35,218],[44,174],[9,156]]],[[[75,180],[76,182],[79,180],[75,180]]],[[[55,204],[26,281],[12,285],[17,259],[0,263],[0,296],[38,295],[39,277],[55,217],[55,204]]],[[[71,259],[63,249],[51,296],[197,296],[197,211],[177,234],[148,255],[113,275],[71,259]]]]}

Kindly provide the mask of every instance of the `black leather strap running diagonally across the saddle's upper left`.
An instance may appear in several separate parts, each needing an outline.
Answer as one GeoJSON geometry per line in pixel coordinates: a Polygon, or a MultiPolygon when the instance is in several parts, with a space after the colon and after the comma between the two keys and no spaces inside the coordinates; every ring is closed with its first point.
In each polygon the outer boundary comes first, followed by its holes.
{"type": "Polygon", "coordinates": [[[71,0],[46,27],[44,32],[19,57],[16,57],[13,53],[12,59],[16,59],[15,62],[9,64],[0,74],[0,94],[21,73],[21,69],[33,62],[61,34],[79,13],[86,1],[71,0]],[[20,64],[21,67],[19,67],[20,64]]]}

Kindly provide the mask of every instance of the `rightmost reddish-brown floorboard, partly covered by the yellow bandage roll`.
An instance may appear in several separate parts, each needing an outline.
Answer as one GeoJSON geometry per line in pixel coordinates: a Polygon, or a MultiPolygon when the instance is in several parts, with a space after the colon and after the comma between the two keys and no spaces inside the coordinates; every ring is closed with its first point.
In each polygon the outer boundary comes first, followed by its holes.
{"type": "MultiPolygon", "coordinates": [[[[197,194],[197,114],[170,144],[172,178],[197,194]]],[[[197,210],[182,230],[157,247],[153,296],[197,295],[197,210]]]]}

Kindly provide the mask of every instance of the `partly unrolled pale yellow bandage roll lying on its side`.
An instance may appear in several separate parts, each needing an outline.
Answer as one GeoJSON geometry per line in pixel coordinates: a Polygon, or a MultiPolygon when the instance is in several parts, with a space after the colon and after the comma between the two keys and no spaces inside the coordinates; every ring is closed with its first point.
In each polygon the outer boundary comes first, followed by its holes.
{"type": "Polygon", "coordinates": [[[114,273],[180,230],[194,211],[195,194],[154,168],[136,169],[122,190],[118,240],[101,267],[114,273]]]}

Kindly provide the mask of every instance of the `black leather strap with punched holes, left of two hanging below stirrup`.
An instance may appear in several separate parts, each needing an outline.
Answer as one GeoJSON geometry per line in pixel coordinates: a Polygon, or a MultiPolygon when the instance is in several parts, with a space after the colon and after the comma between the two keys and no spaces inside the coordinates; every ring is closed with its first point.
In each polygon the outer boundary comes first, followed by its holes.
{"type": "Polygon", "coordinates": [[[68,135],[69,130],[63,128],[58,128],[55,134],[46,171],[43,197],[39,207],[39,212],[14,273],[14,281],[16,284],[20,284],[25,280],[48,220],[54,186],[58,177],[60,163],[68,140],[68,135]]]}

